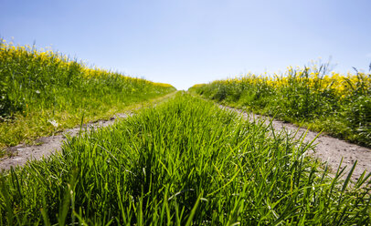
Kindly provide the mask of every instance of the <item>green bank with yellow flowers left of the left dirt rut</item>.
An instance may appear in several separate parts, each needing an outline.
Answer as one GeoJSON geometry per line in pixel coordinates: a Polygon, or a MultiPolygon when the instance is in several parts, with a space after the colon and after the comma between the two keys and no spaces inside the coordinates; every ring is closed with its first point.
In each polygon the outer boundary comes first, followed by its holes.
{"type": "MultiPolygon", "coordinates": [[[[0,40],[0,149],[175,91],[168,84],[86,67],[51,50],[0,40]]],[[[1,154],[1,153],[0,153],[1,154]]]]}

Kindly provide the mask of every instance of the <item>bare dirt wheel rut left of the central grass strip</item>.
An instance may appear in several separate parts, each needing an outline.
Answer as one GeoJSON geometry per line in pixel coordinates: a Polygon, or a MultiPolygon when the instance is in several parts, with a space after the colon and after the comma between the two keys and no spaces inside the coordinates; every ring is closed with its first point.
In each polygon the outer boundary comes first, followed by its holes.
{"type": "MultiPolygon", "coordinates": [[[[169,98],[172,98],[173,96],[175,96],[176,92],[177,91],[167,94],[160,98],[151,99],[147,102],[134,104],[132,105],[132,110],[139,108],[147,108],[150,105],[155,106],[169,98]]],[[[82,130],[89,131],[91,128],[104,128],[112,125],[116,121],[116,119],[126,118],[128,116],[131,116],[131,114],[132,113],[128,111],[128,113],[116,114],[112,116],[111,119],[109,120],[98,120],[96,122],[87,123],[83,125],[82,130]]],[[[23,166],[26,164],[28,160],[42,159],[43,157],[48,157],[53,152],[61,149],[63,141],[67,140],[66,139],[67,135],[75,137],[79,134],[79,132],[80,127],[69,128],[55,136],[35,140],[35,143],[39,143],[40,145],[26,146],[20,144],[15,147],[11,147],[8,149],[8,151],[12,153],[11,157],[4,157],[0,159],[0,171],[9,170],[11,167],[23,166]]]]}

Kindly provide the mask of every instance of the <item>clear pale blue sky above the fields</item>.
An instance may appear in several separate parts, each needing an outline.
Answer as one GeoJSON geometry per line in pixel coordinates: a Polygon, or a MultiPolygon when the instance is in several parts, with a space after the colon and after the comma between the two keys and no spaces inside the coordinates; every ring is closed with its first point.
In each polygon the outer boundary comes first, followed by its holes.
{"type": "Polygon", "coordinates": [[[329,57],[367,71],[370,0],[0,0],[0,37],[187,89],[329,57]]]}

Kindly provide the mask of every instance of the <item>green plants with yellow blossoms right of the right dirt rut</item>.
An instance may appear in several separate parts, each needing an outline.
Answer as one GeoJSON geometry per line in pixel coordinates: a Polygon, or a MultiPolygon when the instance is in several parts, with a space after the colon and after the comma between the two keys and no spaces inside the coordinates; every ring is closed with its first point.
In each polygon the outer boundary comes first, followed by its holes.
{"type": "Polygon", "coordinates": [[[371,74],[328,73],[328,65],[191,87],[218,103],[251,110],[371,147],[371,74]]]}

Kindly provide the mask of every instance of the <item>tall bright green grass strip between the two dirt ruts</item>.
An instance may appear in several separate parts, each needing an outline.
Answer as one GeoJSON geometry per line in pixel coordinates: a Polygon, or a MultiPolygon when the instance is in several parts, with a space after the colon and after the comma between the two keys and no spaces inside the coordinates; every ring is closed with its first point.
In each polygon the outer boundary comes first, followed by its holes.
{"type": "MultiPolygon", "coordinates": [[[[178,94],[0,175],[3,224],[366,225],[370,184],[310,146],[178,94]]],[[[368,181],[368,180],[367,180],[368,181]]]]}

